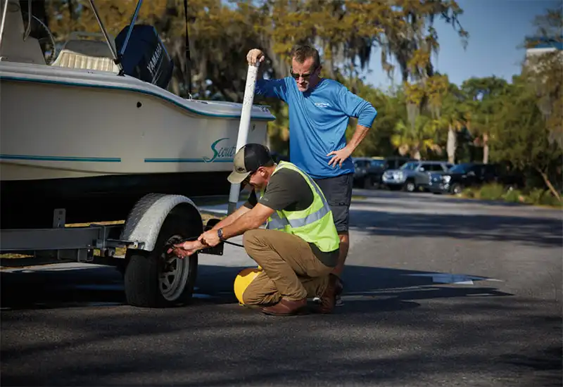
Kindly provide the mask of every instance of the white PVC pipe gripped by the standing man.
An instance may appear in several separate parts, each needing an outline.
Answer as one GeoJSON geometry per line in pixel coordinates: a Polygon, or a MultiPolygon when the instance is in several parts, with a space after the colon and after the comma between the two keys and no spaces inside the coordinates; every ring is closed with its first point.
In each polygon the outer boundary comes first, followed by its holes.
{"type": "MultiPolygon", "coordinates": [[[[241,122],[239,124],[239,137],[236,139],[236,152],[246,145],[248,139],[248,129],[251,124],[251,110],[254,102],[254,89],[256,87],[256,75],[258,74],[258,65],[248,65],[246,73],[246,86],[244,87],[244,97],[242,101],[241,122]]],[[[232,214],[236,210],[236,203],[239,202],[239,194],[241,192],[241,184],[231,184],[229,192],[229,206],[227,215],[232,214]]]]}

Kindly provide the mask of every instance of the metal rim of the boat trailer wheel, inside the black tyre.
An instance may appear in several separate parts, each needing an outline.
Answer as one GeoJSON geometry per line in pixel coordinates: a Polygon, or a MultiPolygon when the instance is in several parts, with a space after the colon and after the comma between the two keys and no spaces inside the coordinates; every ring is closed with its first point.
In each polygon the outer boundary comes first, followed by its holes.
{"type": "MultiPolygon", "coordinates": [[[[166,244],[175,243],[181,237],[172,236],[166,244]]],[[[175,301],[182,295],[189,277],[189,258],[178,258],[175,255],[168,255],[163,250],[160,259],[163,265],[158,271],[158,288],[160,293],[167,301],[175,301]]]]}

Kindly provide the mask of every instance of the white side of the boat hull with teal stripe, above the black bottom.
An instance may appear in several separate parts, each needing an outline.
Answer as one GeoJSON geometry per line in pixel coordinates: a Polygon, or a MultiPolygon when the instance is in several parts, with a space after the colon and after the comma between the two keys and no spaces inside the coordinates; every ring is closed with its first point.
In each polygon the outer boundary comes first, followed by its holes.
{"type": "MultiPolygon", "coordinates": [[[[79,77],[74,79],[77,84],[64,84],[2,75],[2,180],[232,169],[240,119],[185,107],[213,105],[211,101],[178,106],[162,96],[132,90],[128,83],[115,87],[108,75],[98,84],[79,77]]],[[[124,78],[111,76],[113,82],[124,78]]],[[[251,120],[248,142],[265,144],[266,138],[267,115],[251,120]]]]}

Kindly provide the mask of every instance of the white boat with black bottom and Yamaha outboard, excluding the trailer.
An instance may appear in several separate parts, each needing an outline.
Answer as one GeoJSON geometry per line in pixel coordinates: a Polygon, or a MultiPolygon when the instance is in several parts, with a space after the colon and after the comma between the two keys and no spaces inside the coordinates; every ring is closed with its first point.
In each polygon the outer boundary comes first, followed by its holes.
{"type": "MultiPolygon", "coordinates": [[[[8,0],[0,36],[2,228],[51,224],[55,208],[68,222],[123,220],[151,192],[229,193],[241,103],[168,91],[172,60],[134,20],[114,39],[98,16],[99,39],[75,32],[45,60],[21,3],[8,0]]],[[[253,106],[248,141],[265,144],[270,120],[253,106]]]]}

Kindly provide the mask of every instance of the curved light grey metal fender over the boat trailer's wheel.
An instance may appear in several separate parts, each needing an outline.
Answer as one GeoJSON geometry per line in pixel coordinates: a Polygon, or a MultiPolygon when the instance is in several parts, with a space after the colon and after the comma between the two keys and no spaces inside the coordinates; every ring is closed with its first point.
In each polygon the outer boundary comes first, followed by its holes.
{"type": "Polygon", "coordinates": [[[148,194],[141,198],[127,215],[120,239],[143,243],[139,248],[152,251],[160,227],[177,206],[189,208],[189,219],[186,219],[186,222],[199,222],[203,231],[201,212],[189,198],[182,195],[148,194]]]}

